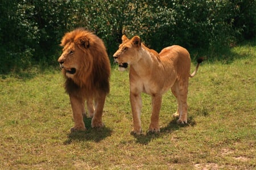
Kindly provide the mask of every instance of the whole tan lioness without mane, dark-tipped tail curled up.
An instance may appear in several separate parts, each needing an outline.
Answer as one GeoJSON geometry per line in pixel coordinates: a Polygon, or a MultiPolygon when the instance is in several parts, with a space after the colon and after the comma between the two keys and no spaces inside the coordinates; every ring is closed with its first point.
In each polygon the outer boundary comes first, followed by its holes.
{"type": "Polygon", "coordinates": [[[197,62],[196,70],[189,74],[191,59],[188,51],[178,45],[168,46],[159,54],[148,49],[142,44],[138,36],[131,40],[122,36],[122,44],[113,55],[115,62],[119,64],[119,70],[123,71],[130,65],[130,102],[133,112],[133,133],[141,134],[141,92],[151,95],[152,114],[149,131],[158,132],[159,112],[162,103],[162,95],[171,88],[177,98],[177,112],[173,114],[179,117],[177,122],[187,123],[187,94],[188,78],[195,76],[203,59],[197,62]]]}

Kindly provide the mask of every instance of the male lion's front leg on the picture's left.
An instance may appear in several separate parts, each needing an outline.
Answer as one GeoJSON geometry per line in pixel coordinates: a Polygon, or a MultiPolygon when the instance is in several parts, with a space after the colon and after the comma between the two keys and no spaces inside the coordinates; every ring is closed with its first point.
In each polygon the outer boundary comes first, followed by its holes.
{"type": "Polygon", "coordinates": [[[84,99],[76,95],[69,95],[75,126],[71,131],[86,130],[84,120],[82,118],[82,107],[84,107],[84,99]]]}

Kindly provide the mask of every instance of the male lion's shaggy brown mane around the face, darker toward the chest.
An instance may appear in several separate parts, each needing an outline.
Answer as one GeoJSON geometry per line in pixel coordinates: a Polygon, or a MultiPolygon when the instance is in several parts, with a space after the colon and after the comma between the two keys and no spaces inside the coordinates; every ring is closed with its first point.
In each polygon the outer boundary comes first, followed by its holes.
{"type": "Polygon", "coordinates": [[[65,90],[68,94],[95,96],[98,91],[109,93],[110,64],[104,42],[92,32],[83,28],[75,29],[66,33],[61,40],[61,46],[74,42],[82,50],[83,55],[79,62],[80,70],[74,77],[68,78],[65,70],[63,74],[66,78],[65,90]],[[81,48],[81,39],[86,39],[88,45],[81,48]]]}

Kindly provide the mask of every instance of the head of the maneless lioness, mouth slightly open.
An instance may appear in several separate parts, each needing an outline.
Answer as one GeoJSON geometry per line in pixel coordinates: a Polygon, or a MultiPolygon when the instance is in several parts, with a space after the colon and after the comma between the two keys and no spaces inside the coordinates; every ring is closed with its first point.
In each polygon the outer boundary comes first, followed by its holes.
{"type": "Polygon", "coordinates": [[[115,62],[119,65],[118,70],[125,71],[128,65],[138,62],[140,59],[138,51],[140,49],[141,39],[139,36],[134,36],[129,40],[125,35],[123,35],[122,44],[119,45],[119,49],[113,55],[115,62]]]}

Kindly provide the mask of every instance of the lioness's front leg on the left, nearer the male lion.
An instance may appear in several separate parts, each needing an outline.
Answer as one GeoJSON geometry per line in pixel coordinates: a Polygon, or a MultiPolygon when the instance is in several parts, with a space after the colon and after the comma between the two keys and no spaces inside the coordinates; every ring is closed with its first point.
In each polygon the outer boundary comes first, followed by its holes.
{"type": "Polygon", "coordinates": [[[133,131],[134,134],[141,134],[141,94],[130,92],[131,111],[133,112],[133,131]]]}

